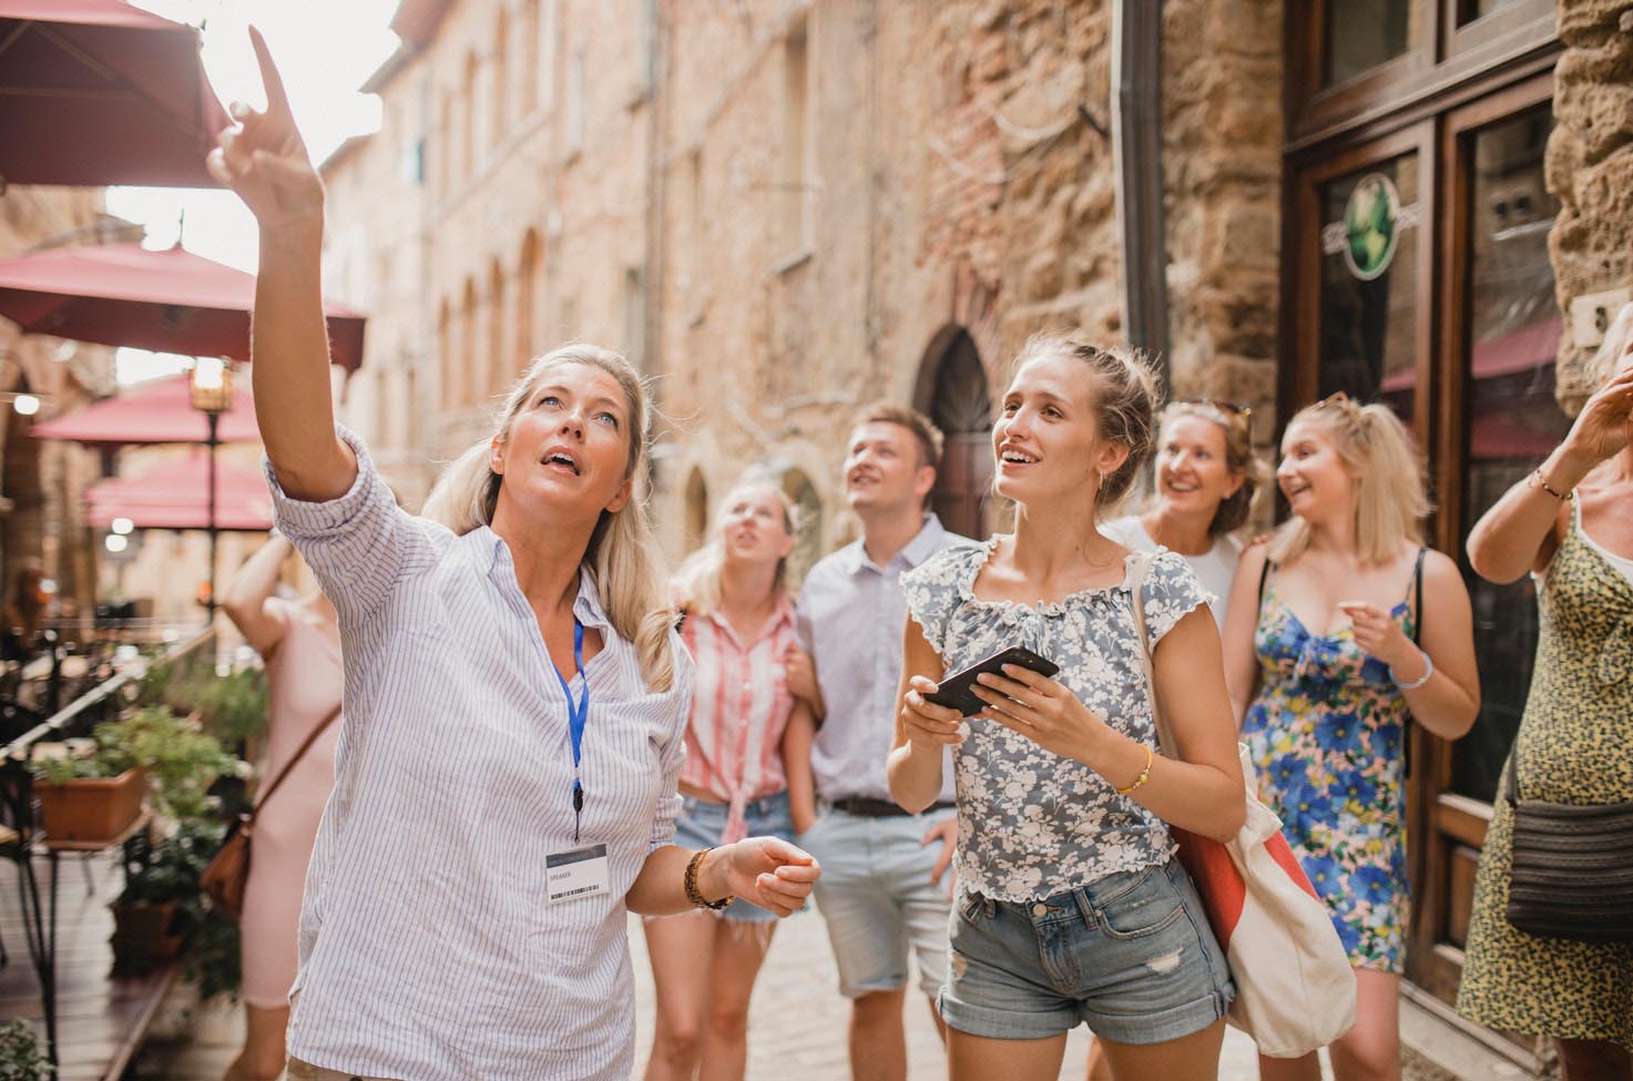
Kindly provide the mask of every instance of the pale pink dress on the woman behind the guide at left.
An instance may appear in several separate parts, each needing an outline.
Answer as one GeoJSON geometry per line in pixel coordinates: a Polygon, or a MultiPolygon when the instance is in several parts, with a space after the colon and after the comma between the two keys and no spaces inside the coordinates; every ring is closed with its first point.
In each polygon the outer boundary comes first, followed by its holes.
{"type": "MultiPolygon", "coordinates": [[[[312,728],[340,704],[340,632],[300,604],[273,599],[268,611],[284,624],[284,637],[266,660],[269,784],[312,728]]],[[[250,883],[243,893],[243,1001],[260,1009],[289,1004],[296,981],[296,928],[305,890],[312,841],[323,803],[335,787],[336,718],[296,763],[278,792],[255,818],[250,843],[250,883]]]]}

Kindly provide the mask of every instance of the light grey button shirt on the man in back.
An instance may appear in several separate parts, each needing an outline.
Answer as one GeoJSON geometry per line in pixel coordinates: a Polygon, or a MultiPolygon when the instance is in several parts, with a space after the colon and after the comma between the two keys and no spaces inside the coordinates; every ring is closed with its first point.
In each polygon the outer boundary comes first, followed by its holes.
{"type": "MultiPolygon", "coordinates": [[[[861,540],[812,567],[800,593],[800,638],[816,665],[828,715],[812,743],[816,795],[890,799],[885,759],[895,741],[906,601],[901,575],[931,555],[973,540],[924,516],[905,549],[879,567],[861,540]]],[[[952,754],[942,764],[941,800],[954,792],[952,754]]]]}

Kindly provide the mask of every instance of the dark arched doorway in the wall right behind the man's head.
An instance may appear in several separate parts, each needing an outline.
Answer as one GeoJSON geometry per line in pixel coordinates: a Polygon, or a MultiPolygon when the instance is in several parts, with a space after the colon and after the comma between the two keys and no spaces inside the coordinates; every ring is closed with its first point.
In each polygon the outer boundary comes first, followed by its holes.
{"type": "Polygon", "coordinates": [[[985,540],[993,532],[993,400],[986,367],[963,327],[937,338],[944,345],[931,346],[924,361],[928,379],[919,379],[919,408],[947,438],[931,509],[952,532],[985,540]]]}

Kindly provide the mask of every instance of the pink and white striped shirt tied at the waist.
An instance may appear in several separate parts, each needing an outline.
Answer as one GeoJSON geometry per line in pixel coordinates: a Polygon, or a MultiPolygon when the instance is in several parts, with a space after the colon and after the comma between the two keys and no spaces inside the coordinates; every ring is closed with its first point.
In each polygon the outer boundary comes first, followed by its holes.
{"type": "Polygon", "coordinates": [[[782,658],[797,643],[794,601],[784,594],[750,642],[720,612],[689,614],[681,638],[697,665],[681,782],[732,805],[720,838],[732,844],[746,836],[745,805],[789,787],[782,730],[794,696],[782,658]]]}

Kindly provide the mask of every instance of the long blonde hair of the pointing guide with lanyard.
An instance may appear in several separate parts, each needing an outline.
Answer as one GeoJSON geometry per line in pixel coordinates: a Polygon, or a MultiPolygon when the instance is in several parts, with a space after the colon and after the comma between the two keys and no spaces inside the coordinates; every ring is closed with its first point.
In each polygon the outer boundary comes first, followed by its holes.
{"type": "MultiPolygon", "coordinates": [[[[617,380],[630,415],[624,478],[637,478],[647,459],[652,423],[647,389],[629,361],[601,346],[575,341],[529,364],[505,400],[505,411],[496,428],[498,439],[503,443],[509,436],[511,421],[532,397],[544,374],[562,364],[599,367],[617,380]]],[[[482,439],[449,462],[426,496],[425,518],[443,523],[461,536],[493,523],[503,477],[488,467],[490,449],[492,438],[482,439]]],[[[674,656],[670,650],[674,614],[663,603],[663,557],[652,534],[647,505],[632,498],[616,513],[603,511],[581,565],[596,583],[601,607],[606,609],[612,629],[635,645],[648,689],[668,691],[674,681],[674,656]]]]}

